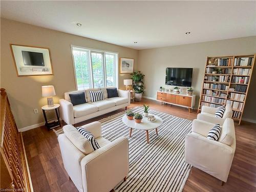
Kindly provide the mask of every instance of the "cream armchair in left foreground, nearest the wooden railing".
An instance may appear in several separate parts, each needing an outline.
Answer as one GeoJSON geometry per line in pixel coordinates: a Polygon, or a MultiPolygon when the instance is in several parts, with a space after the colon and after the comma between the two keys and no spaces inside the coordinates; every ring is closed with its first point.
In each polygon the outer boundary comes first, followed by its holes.
{"type": "Polygon", "coordinates": [[[93,151],[89,140],[74,126],[63,126],[64,134],[58,136],[58,142],[64,167],[78,191],[109,192],[129,173],[128,139],[104,139],[100,122],[83,127],[93,134],[100,148],[93,151]]]}

